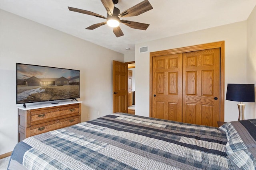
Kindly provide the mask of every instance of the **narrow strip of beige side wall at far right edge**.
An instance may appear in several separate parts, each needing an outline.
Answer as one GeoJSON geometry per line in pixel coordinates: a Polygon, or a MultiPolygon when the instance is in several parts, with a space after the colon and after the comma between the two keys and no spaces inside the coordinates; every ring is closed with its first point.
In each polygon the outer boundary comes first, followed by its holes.
{"type": "MultiPolygon", "coordinates": [[[[247,20],[247,83],[255,84],[256,96],[256,6],[247,20]]],[[[255,100],[256,101],[256,100],[255,100]]],[[[256,103],[246,103],[247,114],[256,117],[256,103]]]]}

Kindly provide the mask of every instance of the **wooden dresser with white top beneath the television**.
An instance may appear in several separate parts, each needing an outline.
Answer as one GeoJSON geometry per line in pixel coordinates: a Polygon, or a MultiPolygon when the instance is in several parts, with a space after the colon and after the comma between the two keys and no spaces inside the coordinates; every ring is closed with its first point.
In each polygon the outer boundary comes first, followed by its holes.
{"type": "Polygon", "coordinates": [[[82,102],[60,102],[18,107],[18,142],[40,133],[81,122],[82,102]]]}

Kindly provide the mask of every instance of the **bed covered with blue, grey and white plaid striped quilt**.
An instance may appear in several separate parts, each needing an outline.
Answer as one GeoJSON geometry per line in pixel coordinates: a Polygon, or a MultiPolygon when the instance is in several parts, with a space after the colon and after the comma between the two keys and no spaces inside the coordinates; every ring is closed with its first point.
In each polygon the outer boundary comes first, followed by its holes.
{"type": "Polygon", "coordinates": [[[114,113],[24,139],[8,170],[255,169],[256,119],[222,127],[114,113]]]}

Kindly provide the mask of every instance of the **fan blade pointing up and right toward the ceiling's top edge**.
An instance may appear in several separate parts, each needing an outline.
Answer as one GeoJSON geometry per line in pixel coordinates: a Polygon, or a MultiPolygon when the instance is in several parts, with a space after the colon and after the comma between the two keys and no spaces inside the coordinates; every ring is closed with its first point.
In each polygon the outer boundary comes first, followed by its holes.
{"type": "Polygon", "coordinates": [[[119,18],[122,17],[132,17],[132,16],[138,16],[140,14],[143,14],[144,12],[147,12],[149,10],[152,10],[153,7],[148,2],[148,0],[144,0],[140,2],[139,4],[133,6],[132,8],[129,8],[128,10],[122,12],[118,15],[119,18]]]}

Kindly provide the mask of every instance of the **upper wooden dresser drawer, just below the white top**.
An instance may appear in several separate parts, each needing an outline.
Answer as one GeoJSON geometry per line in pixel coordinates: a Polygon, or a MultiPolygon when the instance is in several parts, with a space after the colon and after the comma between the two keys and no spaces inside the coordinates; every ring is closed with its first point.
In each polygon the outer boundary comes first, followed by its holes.
{"type": "Polygon", "coordinates": [[[48,119],[59,119],[65,116],[79,115],[79,105],[66,106],[66,107],[56,107],[52,109],[44,109],[31,112],[31,125],[38,121],[48,120],[48,119]]]}

